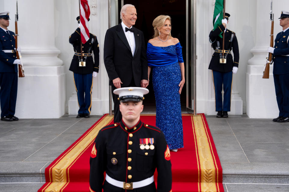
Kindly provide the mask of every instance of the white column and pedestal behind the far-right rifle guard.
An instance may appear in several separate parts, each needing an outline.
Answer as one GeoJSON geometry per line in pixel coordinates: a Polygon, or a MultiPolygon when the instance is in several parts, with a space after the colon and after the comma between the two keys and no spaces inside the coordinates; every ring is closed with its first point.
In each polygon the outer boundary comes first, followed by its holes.
{"type": "MultiPolygon", "coordinates": [[[[273,65],[270,66],[269,79],[262,79],[264,64],[270,45],[270,0],[257,0],[256,7],[256,44],[247,67],[247,115],[250,118],[274,118],[279,114],[273,79],[273,65]]],[[[282,30],[279,25],[281,10],[288,7],[287,0],[273,1],[274,39],[282,30]]]]}

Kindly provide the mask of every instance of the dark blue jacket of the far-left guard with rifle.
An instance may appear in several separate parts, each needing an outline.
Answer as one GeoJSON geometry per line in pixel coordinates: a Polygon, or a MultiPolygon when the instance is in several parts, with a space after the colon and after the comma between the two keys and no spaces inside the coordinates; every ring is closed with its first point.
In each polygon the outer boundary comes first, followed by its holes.
{"type": "Polygon", "coordinates": [[[8,35],[0,28],[0,73],[17,73],[18,67],[13,62],[16,59],[15,48],[15,33],[9,31],[8,35]],[[11,52],[4,52],[2,50],[11,50],[11,52]]]}

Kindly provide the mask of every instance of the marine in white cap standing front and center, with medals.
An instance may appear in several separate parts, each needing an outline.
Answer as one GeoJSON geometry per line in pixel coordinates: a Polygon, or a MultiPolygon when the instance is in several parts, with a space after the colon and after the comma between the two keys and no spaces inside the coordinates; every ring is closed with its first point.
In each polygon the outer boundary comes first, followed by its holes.
{"type": "Polygon", "coordinates": [[[119,95],[122,121],[98,132],[90,157],[90,191],[171,192],[170,153],[164,134],[140,121],[148,89],[124,87],[113,92],[119,95]]]}

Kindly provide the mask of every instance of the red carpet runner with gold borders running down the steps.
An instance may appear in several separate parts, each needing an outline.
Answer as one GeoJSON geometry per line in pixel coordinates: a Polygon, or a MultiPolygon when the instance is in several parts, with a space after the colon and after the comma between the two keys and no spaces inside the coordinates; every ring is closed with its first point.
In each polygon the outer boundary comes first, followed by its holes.
{"type": "MultiPolygon", "coordinates": [[[[155,115],[141,115],[141,121],[155,125],[155,115]]],[[[171,152],[172,191],[223,192],[222,167],[204,114],[183,114],[182,121],[184,148],[171,152]]],[[[113,116],[104,115],[55,159],[45,169],[46,183],[38,192],[89,192],[92,143],[112,123],[113,116]]]]}

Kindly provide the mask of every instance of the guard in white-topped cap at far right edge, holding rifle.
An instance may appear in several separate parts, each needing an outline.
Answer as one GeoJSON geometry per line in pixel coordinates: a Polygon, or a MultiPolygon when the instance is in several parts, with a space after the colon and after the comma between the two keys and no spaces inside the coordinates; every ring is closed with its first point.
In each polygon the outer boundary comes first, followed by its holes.
{"type": "Polygon", "coordinates": [[[268,52],[273,53],[273,77],[279,116],[273,122],[289,122],[289,12],[282,11],[280,26],[283,31],[275,38],[274,47],[269,47],[268,52]]]}

